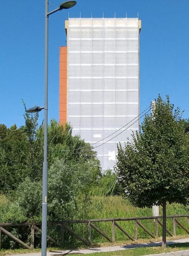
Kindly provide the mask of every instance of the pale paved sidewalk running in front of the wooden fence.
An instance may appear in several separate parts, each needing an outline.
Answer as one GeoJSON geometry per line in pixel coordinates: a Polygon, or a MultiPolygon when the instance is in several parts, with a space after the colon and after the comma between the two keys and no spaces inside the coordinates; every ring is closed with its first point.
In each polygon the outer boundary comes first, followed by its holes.
{"type": "MultiPolygon", "coordinates": [[[[176,244],[176,243],[187,243],[187,242],[189,242],[189,238],[167,241],[167,245],[176,244]]],[[[76,253],[77,254],[88,254],[88,253],[94,253],[94,252],[113,252],[116,250],[128,250],[128,249],[134,249],[137,247],[152,247],[152,246],[154,247],[154,246],[160,246],[160,245],[161,245],[161,242],[154,242],[154,243],[137,243],[137,244],[131,244],[131,245],[116,245],[116,246],[108,246],[108,247],[97,247],[97,248],[91,248],[91,249],[59,250],[59,251],[47,252],[47,256],[74,255],[76,253]]],[[[174,254],[171,254],[171,253],[154,254],[153,256],[163,256],[163,255],[166,255],[166,256],[189,256],[189,250],[185,251],[183,254],[182,254],[182,252],[174,252],[174,254]]],[[[28,254],[14,254],[14,256],[40,256],[40,252],[28,253],[28,254]]]]}

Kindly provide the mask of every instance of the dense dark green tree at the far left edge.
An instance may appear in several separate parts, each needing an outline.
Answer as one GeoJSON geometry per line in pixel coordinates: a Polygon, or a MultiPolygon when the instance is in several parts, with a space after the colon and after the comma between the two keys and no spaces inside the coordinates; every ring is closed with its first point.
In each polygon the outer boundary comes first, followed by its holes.
{"type": "Polygon", "coordinates": [[[0,190],[15,189],[26,176],[27,136],[16,125],[0,124],[0,190]]]}

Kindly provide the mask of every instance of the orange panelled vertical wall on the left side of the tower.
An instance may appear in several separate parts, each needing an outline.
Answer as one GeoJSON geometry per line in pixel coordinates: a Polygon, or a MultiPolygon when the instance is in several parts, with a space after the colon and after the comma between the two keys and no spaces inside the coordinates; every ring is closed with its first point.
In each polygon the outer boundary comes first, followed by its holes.
{"type": "Polygon", "coordinates": [[[67,121],[67,46],[60,47],[59,123],[67,121]]]}

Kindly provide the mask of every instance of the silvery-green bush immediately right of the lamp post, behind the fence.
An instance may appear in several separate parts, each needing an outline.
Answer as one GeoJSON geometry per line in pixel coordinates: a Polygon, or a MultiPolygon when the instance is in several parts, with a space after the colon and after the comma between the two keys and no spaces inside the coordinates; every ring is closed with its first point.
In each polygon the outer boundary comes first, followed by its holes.
{"type": "Polygon", "coordinates": [[[55,161],[49,170],[49,218],[58,221],[86,217],[88,193],[98,177],[99,165],[94,159],[55,161]]]}

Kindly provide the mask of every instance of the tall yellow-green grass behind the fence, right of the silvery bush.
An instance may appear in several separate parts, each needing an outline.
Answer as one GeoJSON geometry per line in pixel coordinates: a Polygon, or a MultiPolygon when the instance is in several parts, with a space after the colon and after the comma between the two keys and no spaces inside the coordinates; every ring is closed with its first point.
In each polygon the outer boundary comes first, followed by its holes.
{"type": "MultiPolygon", "coordinates": [[[[152,216],[151,208],[137,208],[132,206],[128,200],[119,196],[94,196],[88,205],[87,219],[108,219],[108,218],[127,218],[127,217],[148,217],[152,216]]],[[[188,214],[189,206],[182,206],[180,204],[167,204],[167,215],[188,214]]],[[[160,215],[162,215],[162,208],[160,206],[160,215]]],[[[77,218],[77,216],[75,216],[77,218]]],[[[179,221],[187,228],[189,228],[187,218],[179,218],[179,221]]],[[[155,236],[155,222],[154,220],[141,220],[140,221],[152,234],[155,236]]],[[[117,221],[128,234],[134,237],[134,221],[117,221]]],[[[100,228],[105,234],[111,238],[112,236],[112,223],[111,222],[96,222],[95,226],[100,228]]],[[[74,224],[73,230],[83,236],[87,240],[87,224],[74,224]]],[[[167,220],[167,228],[173,233],[172,219],[167,220]]],[[[105,242],[104,237],[98,234],[93,228],[91,229],[92,242],[105,242]]],[[[184,235],[186,232],[176,226],[176,234],[184,235]]],[[[159,236],[162,235],[162,228],[159,225],[159,236]]],[[[138,226],[138,238],[148,239],[150,236],[138,226]]],[[[116,228],[116,241],[128,240],[123,232],[116,228]]]]}

